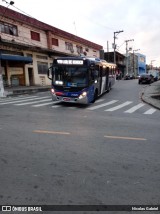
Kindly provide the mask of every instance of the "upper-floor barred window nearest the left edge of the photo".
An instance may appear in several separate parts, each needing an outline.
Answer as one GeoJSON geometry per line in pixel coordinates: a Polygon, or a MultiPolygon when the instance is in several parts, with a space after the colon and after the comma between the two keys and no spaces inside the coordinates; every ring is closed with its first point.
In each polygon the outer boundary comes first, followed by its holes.
{"type": "Polygon", "coordinates": [[[17,26],[9,23],[0,22],[0,32],[13,36],[18,36],[17,26]]]}

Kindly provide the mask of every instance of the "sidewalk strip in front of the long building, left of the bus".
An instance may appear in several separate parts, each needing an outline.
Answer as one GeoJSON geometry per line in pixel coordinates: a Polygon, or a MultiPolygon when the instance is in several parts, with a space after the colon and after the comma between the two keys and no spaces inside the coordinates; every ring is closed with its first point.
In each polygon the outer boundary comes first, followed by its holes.
{"type": "Polygon", "coordinates": [[[51,86],[16,86],[16,87],[5,87],[5,96],[14,96],[21,94],[31,94],[43,91],[49,91],[51,86]]]}

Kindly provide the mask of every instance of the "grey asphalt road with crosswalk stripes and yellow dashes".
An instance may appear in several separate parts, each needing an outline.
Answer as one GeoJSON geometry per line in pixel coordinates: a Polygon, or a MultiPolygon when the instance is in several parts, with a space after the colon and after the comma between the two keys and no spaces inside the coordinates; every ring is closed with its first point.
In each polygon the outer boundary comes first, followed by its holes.
{"type": "Polygon", "coordinates": [[[142,87],[117,81],[89,106],[36,103],[48,92],[1,100],[1,204],[158,204],[160,111],[142,87]]]}

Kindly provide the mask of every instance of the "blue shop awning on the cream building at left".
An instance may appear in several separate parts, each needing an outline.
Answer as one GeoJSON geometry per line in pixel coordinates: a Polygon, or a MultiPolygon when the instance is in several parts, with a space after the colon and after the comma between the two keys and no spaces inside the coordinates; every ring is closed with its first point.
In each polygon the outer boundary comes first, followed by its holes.
{"type": "Polygon", "coordinates": [[[8,61],[20,61],[24,63],[32,63],[32,57],[28,56],[18,56],[18,55],[8,55],[8,54],[0,54],[1,60],[8,60],[8,61]]]}

